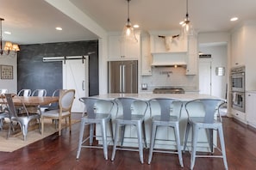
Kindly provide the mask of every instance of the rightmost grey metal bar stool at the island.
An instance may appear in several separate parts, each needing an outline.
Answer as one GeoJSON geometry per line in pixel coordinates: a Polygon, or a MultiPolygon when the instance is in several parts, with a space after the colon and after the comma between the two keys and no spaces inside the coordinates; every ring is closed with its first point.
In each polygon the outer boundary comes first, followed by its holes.
{"type": "Polygon", "coordinates": [[[222,130],[222,117],[219,112],[220,106],[225,103],[225,100],[218,99],[201,99],[190,100],[185,104],[185,110],[188,114],[187,128],[185,132],[184,150],[187,148],[190,128],[192,128],[191,154],[190,154],[190,169],[193,169],[197,157],[214,157],[222,158],[225,169],[228,169],[224,135],[222,130]],[[205,130],[209,143],[209,152],[211,155],[197,155],[198,134],[200,130],[205,130]],[[213,131],[218,131],[221,149],[214,144],[213,131]],[[217,149],[222,154],[215,154],[214,149],[217,149]]]}

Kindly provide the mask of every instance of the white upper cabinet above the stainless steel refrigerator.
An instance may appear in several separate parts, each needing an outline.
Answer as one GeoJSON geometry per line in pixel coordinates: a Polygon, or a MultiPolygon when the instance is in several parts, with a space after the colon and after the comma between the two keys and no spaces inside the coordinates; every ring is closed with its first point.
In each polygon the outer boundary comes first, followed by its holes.
{"type": "Polygon", "coordinates": [[[140,34],[137,43],[122,42],[120,35],[109,36],[109,60],[138,59],[140,57],[140,34]]]}

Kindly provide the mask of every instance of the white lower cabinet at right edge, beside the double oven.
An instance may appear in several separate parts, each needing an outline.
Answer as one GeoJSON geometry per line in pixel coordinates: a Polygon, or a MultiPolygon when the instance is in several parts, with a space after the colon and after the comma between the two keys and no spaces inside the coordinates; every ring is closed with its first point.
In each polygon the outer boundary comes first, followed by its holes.
{"type": "Polygon", "coordinates": [[[256,92],[246,93],[247,123],[256,128],[256,92]]]}

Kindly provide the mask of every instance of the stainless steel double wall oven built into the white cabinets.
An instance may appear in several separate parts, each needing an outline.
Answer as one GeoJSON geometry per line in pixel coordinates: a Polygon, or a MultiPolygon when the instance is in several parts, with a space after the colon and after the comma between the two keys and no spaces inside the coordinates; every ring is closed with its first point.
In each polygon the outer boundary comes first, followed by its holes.
{"type": "Polygon", "coordinates": [[[240,112],[245,112],[245,74],[245,66],[231,69],[232,107],[240,112]]]}

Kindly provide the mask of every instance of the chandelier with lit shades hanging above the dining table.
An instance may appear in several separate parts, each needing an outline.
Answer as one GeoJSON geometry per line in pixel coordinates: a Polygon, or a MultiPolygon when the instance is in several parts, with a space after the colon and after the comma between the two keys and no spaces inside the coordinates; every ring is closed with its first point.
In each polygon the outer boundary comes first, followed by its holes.
{"type": "Polygon", "coordinates": [[[3,36],[2,36],[2,21],[4,21],[3,18],[0,18],[0,55],[15,55],[18,51],[20,51],[20,48],[16,44],[12,44],[9,41],[5,42],[5,46],[3,48],[3,36]]]}

